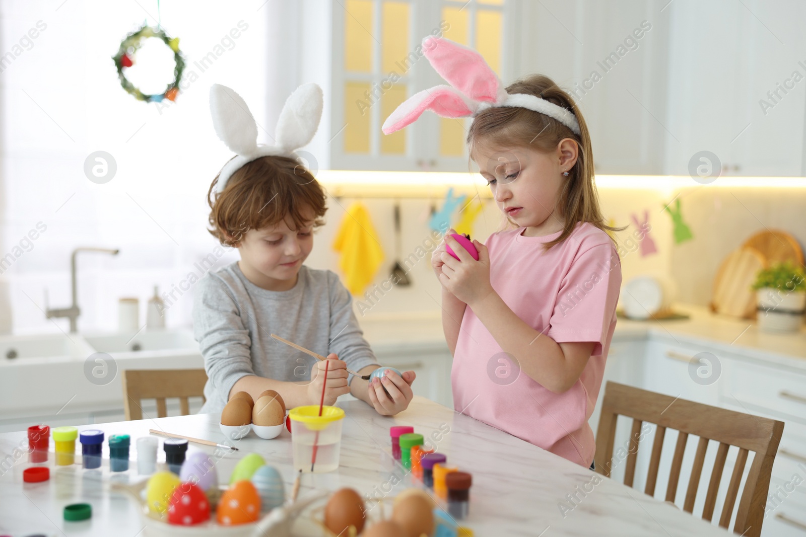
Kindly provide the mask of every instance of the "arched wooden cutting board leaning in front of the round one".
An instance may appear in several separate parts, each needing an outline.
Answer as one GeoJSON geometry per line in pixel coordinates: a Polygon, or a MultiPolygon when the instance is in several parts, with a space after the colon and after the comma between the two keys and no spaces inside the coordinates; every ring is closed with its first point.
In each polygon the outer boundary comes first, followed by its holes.
{"type": "Polygon", "coordinates": [[[742,246],[728,254],[713,280],[711,311],[753,319],[756,299],[750,286],[758,271],[765,266],[767,259],[750,246],[742,246]]]}

